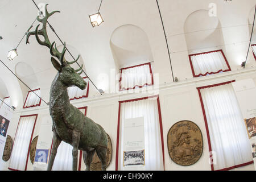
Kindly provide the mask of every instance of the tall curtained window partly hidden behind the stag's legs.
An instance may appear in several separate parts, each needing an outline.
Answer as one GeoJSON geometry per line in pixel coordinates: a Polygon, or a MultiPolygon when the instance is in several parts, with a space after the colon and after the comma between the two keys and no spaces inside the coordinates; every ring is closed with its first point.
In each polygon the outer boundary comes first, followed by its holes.
{"type": "MultiPolygon", "coordinates": [[[[86,115],[87,107],[79,107],[84,115],[86,115]]],[[[73,165],[73,156],[72,156],[73,147],[71,144],[61,142],[58,149],[57,154],[55,156],[55,160],[52,166],[52,171],[72,171],[73,165]]],[[[78,170],[81,170],[81,162],[82,162],[82,151],[79,150],[78,156],[78,170]]]]}

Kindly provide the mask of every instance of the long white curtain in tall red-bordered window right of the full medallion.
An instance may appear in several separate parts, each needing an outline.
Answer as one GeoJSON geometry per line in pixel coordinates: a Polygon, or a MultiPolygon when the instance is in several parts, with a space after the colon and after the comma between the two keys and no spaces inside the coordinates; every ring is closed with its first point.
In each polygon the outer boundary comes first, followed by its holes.
{"type": "Polygon", "coordinates": [[[253,160],[232,84],[200,89],[209,127],[214,170],[253,160]]]}

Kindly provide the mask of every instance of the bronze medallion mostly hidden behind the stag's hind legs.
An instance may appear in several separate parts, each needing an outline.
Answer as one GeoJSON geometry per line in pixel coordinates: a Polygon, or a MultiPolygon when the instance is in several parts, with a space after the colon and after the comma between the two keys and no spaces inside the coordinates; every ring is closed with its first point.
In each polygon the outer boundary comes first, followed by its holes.
{"type": "MultiPolygon", "coordinates": [[[[107,154],[106,154],[106,168],[109,166],[111,159],[112,159],[112,142],[111,142],[111,139],[108,135],[108,149],[107,149],[107,154]]],[[[90,169],[92,171],[101,171],[101,160],[98,158],[98,155],[96,154],[96,152],[93,155],[92,163],[90,164],[90,169]]]]}

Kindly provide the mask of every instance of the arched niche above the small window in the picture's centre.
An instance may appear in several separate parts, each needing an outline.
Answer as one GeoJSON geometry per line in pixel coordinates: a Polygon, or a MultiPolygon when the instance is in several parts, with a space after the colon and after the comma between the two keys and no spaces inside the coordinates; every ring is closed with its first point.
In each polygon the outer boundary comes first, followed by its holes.
{"type": "Polygon", "coordinates": [[[118,69],[153,60],[146,33],[132,24],[120,26],[113,31],[110,48],[118,69]]]}

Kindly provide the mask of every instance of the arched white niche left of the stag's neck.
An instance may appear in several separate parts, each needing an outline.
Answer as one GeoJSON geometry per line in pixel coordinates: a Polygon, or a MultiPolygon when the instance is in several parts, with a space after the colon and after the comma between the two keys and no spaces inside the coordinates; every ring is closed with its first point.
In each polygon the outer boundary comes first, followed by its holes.
{"type": "MultiPolygon", "coordinates": [[[[36,73],[34,72],[33,68],[29,64],[25,62],[17,63],[15,65],[15,75],[18,76],[20,80],[22,80],[30,89],[33,90],[33,89],[40,88],[36,73]]],[[[22,89],[22,95],[23,95],[23,101],[24,101],[30,89],[28,89],[27,86],[24,85],[20,80],[18,81],[19,81],[20,88],[22,89]]]]}

